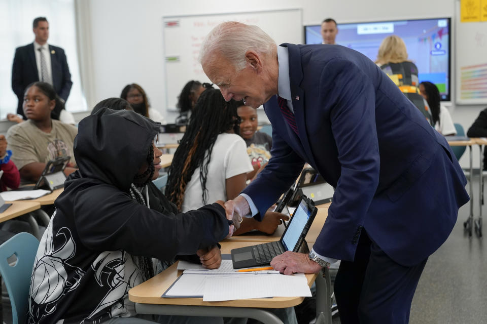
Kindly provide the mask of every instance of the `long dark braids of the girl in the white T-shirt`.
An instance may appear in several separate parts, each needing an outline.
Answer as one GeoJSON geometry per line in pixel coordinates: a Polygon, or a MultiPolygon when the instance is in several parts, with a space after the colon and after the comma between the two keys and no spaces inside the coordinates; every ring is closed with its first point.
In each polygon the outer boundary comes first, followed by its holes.
{"type": "Polygon", "coordinates": [[[201,168],[199,181],[206,204],[206,179],[213,146],[218,135],[235,129],[239,120],[235,101],[225,102],[219,90],[210,88],[201,94],[174,154],[173,161],[177,162],[171,164],[168,171],[165,195],[178,209],[183,205],[186,186],[198,167],[201,168]]]}

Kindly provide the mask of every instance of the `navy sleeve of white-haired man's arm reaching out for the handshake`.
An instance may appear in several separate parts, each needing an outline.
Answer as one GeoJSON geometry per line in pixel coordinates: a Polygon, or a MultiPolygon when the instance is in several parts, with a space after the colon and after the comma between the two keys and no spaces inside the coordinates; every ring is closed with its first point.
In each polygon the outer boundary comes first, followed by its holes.
{"type": "Polygon", "coordinates": [[[304,160],[274,131],[274,126],[270,154],[272,157],[264,170],[242,191],[257,207],[257,220],[261,220],[267,209],[291,187],[304,166],[304,160]]]}

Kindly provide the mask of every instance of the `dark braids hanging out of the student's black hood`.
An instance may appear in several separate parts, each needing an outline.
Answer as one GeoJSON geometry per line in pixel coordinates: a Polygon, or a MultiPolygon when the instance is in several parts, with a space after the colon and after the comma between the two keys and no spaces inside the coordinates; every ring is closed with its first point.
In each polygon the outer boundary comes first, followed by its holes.
{"type": "MultiPolygon", "coordinates": [[[[151,179],[152,176],[154,175],[154,147],[151,144],[151,147],[149,148],[149,153],[147,154],[147,163],[149,164],[147,170],[140,174],[140,175],[135,175],[133,177],[133,181],[130,184],[130,197],[132,197],[133,200],[137,201],[137,203],[147,206],[146,201],[144,200],[144,197],[142,196],[141,191],[137,189],[138,187],[144,187],[151,179]]],[[[147,188],[146,188],[147,190],[147,188]]],[[[152,259],[148,257],[133,257],[133,261],[135,264],[138,265],[138,268],[140,269],[142,273],[142,277],[145,280],[148,280],[154,276],[154,267],[152,265],[152,259]]]]}

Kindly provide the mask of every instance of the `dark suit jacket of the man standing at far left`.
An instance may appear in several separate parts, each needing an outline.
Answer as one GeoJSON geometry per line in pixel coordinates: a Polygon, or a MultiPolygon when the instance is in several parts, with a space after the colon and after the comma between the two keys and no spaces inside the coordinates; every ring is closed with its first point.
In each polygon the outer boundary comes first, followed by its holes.
{"type": "MultiPolygon", "coordinates": [[[[71,91],[71,73],[67,66],[66,55],[60,47],[49,45],[49,54],[51,55],[52,84],[57,95],[64,101],[67,100],[71,91]]],[[[24,100],[24,91],[28,85],[39,81],[39,72],[36,63],[36,54],[34,53],[34,44],[28,44],[18,47],[15,50],[14,63],[12,64],[12,90],[19,98],[17,113],[24,116],[22,103],[24,100]]],[[[25,116],[24,116],[25,118],[25,116]]]]}

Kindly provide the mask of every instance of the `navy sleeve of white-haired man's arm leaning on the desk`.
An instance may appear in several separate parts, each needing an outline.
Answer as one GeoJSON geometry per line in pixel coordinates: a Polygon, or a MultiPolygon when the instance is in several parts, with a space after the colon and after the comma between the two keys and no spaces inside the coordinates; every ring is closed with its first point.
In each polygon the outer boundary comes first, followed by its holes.
{"type": "Polygon", "coordinates": [[[313,249],[322,256],[353,261],[354,236],[360,233],[379,179],[375,90],[360,68],[343,59],[324,66],[320,87],[321,104],[330,106],[341,173],[313,249]]]}

